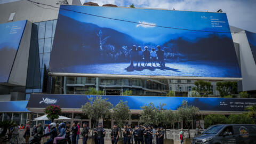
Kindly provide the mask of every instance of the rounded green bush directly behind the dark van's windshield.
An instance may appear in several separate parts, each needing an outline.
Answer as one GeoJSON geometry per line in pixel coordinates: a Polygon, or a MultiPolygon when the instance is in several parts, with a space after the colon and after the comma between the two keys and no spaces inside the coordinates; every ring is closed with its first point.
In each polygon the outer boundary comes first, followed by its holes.
{"type": "Polygon", "coordinates": [[[204,125],[206,128],[214,124],[225,124],[225,123],[227,123],[227,117],[225,115],[210,114],[205,116],[204,118],[204,125]]]}

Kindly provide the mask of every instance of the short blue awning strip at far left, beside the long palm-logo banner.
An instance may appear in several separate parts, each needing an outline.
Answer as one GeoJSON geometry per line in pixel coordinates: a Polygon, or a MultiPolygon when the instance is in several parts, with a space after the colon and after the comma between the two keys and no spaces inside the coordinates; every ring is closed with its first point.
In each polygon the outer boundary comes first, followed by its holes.
{"type": "Polygon", "coordinates": [[[30,112],[26,106],[28,101],[0,101],[1,113],[22,113],[30,112]]]}

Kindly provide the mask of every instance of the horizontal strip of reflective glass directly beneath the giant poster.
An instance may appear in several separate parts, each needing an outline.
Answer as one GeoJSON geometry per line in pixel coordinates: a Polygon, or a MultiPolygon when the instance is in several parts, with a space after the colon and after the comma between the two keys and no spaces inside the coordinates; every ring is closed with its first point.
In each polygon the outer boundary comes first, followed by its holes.
{"type": "MultiPolygon", "coordinates": [[[[113,77],[52,77],[52,91],[55,94],[86,94],[90,88],[103,91],[108,95],[108,90],[116,90],[117,95],[126,95],[127,91],[132,91],[130,95],[147,96],[172,96],[173,91],[176,97],[191,97],[194,82],[197,80],[182,79],[150,79],[150,78],[113,78],[113,77]]],[[[217,96],[217,81],[211,82],[212,94],[217,96]]]]}

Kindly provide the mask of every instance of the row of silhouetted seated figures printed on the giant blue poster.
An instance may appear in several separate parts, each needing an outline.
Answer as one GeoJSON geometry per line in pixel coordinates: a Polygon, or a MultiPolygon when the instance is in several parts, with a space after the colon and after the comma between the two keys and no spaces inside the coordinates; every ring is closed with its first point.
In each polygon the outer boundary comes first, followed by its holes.
{"type": "Polygon", "coordinates": [[[157,50],[153,48],[151,49],[151,52],[148,50],[148,46],[145,46],[144,48],[145,50],[142,51],[140,46],[137,47],[133,45],[132,50],[130,51],[131,65],[129,67],[134,67],[134,63],[137,67],[141,66],[142,62],[144,62],[144,66],[148,66],[148,63],[151,63],[151,66],[153,66],[153,63],[157,66],[157,62],[161,67],[165,66],[164,51],[161,50],[159,45],[157,46],[157,50]]]}

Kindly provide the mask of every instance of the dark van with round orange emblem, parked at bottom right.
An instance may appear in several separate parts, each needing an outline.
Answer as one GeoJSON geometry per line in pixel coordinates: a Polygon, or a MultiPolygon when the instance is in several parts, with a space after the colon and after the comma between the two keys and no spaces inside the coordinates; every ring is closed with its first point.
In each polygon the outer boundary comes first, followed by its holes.
{"type": "Polygon", "coordinates": [[[191,144],[256,144],[256,125],[219,124],[212,125],[201,135],[194,137],[191,144]]]}

